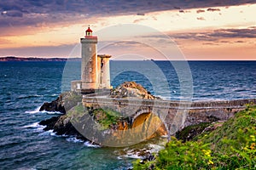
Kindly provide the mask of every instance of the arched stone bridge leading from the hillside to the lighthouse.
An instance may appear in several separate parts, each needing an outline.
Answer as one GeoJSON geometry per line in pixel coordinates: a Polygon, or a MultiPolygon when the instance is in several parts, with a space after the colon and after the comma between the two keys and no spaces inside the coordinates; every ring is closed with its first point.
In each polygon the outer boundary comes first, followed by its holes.
{"type": "MultiPolygon", "coordinates": [[[[93,108],[118,111],[128,117],[130,124],[140,116],[153,113],[165,124],[167,132],[174,134],[183,127],[201,122],[225,121],[246,104],[255,104],[256,99],[225,101],[172,101],[162,99],[116,99],[106,96],[83,96],[83,105],[93,108]]],[[[142,118],[142,117],[140,117],[142,118]]]]}

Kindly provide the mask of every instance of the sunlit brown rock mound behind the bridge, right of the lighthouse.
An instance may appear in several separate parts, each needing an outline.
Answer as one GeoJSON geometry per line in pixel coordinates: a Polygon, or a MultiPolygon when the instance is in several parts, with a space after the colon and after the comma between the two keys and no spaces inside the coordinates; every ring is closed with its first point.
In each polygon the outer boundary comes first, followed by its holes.
{"type": "Polygon", "coordinates": [[[109,97],[111,98],[137,98],[137,99],[160,99],[150,94],[142,85],[137,82],[124,82],[114,88],[109,97]]]}

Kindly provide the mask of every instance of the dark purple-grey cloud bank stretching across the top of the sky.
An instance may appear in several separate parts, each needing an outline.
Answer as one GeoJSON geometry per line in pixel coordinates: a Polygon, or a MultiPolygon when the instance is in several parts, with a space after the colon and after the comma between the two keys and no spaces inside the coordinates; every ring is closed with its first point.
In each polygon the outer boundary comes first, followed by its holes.
{"type": "Polygon", "coordinates": [[[185,9],[189,8],[208,8],[208,11],[218,11],[218,8],[212,7],[245,3],[255,2],[250,0],[224,0],[221,3],[212,0],[159,0],[150,2],[148,0],[9,0],[0,1],[0,27],[34,26],[42,22],[56,24],[117,14],[143,15],[148,12],[170,9],[179,9],[181,13],[186,12],[185,9]],[[19,20],[21,17],[22,20],[19,20]]]}

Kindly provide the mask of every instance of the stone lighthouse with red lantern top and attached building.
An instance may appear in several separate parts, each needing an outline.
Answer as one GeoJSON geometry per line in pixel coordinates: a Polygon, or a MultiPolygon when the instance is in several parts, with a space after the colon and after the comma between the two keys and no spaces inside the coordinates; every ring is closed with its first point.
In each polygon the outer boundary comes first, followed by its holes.
{"type": "Polygon", "coordinates": [[[71,82],[71,90],[82,94],[94,93],[97,89],[110,89],[109,54],[97,54],[98,38],[92,35],[90,26],[81,42],[81,80],[71,82]]]}

